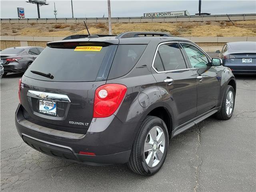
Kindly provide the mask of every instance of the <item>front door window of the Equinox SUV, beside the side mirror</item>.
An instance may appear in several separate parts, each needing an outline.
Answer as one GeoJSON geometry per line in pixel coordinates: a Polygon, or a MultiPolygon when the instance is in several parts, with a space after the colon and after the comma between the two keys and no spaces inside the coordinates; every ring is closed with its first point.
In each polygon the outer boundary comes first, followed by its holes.
{"type": "Polygon", "coordinates": [[[182,43],[181,45],[188,56],[188,60],[190,61],[192,68],[210,66],[210,62],[208,61],[206,55],[198,48],[186,43],[182,43]]]}

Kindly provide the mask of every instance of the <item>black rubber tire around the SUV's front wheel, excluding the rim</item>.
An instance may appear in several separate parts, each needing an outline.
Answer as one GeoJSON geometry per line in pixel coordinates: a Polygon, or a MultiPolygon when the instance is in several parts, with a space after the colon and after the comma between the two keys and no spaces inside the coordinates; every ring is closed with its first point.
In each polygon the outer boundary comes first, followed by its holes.
{"type": "Polygon", "coordinates": [[[226,91],[224,93],[224,97],[223,97],[223,100],[222,100],[221,108],[220,108],[220,110],[215,115],[217,119],[228,120],[228,119],[230,119],[232,117],[232,114],[234,112],[234,106],[235,106],[235,98],[236,98],[236,95],[235,95],[234,88],[232,86],[228,85],[227,89],[226,89],[226,91]],[[233,92],[234,103],[233,103],[232,112],[228,115],[226,113],[226,99],[227,99],[227,96],[228,96],[228,92],[230,92],[230,91],[233,92]]]}

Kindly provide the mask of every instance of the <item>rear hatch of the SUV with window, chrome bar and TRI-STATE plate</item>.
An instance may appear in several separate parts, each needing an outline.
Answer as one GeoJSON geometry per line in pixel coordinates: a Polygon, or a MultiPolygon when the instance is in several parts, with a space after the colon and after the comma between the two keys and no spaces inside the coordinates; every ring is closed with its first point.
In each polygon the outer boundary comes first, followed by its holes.
{"type": "Polygon", "coordinates": [[[24,118],[85,134],[93,118],[95,90],[106,84],[116,48],[102,42],[49,44],[22,77],[24,118]]]}

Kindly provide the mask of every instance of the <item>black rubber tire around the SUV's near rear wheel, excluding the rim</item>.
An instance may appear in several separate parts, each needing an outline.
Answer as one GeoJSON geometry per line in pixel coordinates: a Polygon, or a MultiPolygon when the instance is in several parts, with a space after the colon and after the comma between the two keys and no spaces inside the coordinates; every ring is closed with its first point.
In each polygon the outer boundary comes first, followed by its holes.
{"type": "Polygon", "coordinates": [[[143,176],[151,176],[155,174],[160,170],[160,168],[164,164],[164,160],[166,158],[166,154],[168,150],[168,144],[169,144],[168,130],[164,121],[158,117],[147,116],[140,126],[140,132],[138,136],[134,140],[134,144],[132,146],[132,151],[130,154],[130,159],[128,162],[128,167],[133,172],[143,176]],[[163,156],[160,162],[154,167],[149,167],[146,164],[146,161],[144,158],[144,142],[146,141],[146,138],[150,130],[155,126],[159,126],[160,128],[162,128],[165,136],[165,146],[164,146],[163,156]]]}

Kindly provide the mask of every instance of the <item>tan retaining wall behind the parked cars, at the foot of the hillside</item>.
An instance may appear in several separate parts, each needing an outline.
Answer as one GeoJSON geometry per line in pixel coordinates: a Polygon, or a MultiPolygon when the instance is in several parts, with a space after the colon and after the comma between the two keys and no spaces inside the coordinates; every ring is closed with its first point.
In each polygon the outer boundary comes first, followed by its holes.
{"type": "MultiPolygon", "coordinates": [[[[62,40],[64,37],[31,37],[31,36],[0,36],[1,47],[6,49],[14,46],[41,46],[47,42],[62,40]]],[[[220,50],[226,42],[256,41],[256,37],[184,37],[197,43],[205,51],[220,50]]]]}

